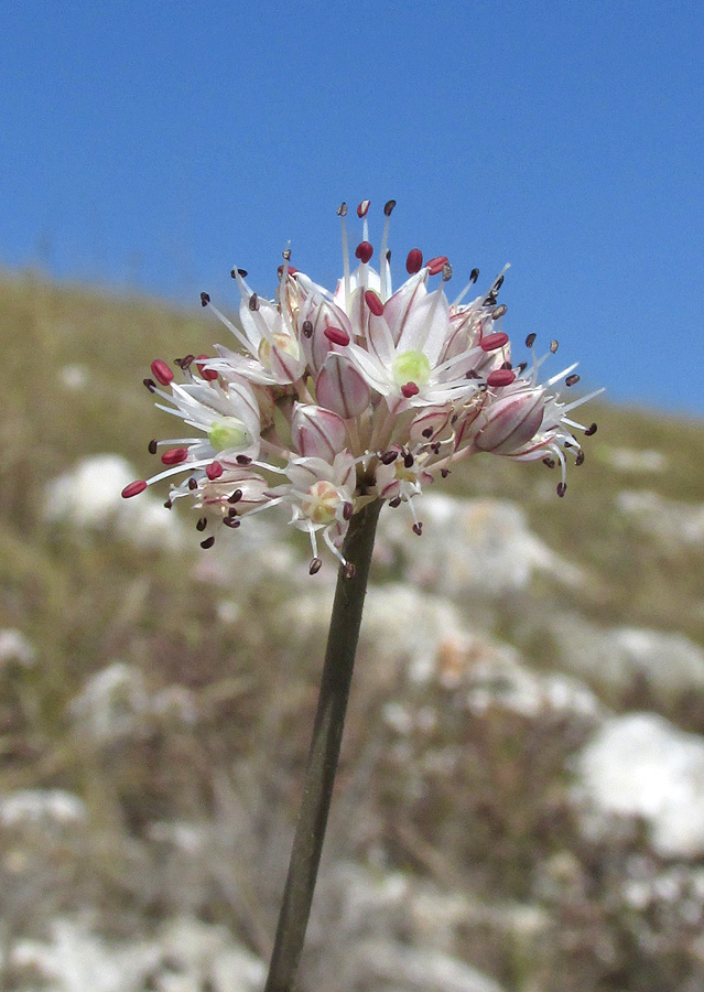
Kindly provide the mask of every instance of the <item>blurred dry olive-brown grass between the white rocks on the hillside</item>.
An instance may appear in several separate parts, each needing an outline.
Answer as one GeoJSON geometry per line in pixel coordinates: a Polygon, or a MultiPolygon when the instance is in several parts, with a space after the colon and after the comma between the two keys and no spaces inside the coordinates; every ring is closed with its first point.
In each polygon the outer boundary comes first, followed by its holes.
{"type": "MultiPolygon", "coordinates": [[[[86,455],[119,453],[137,474],[149,472],[147,444],[169,430],[140,385],[150,362],[208,352],[224,331],[197,305],[186,313],[30,272],[0,279],[0,628],[21,630],[36,650],[34,665],[0,662],[0,792],[66,789],[87,804],[90,822],[85,834],[54,847],[0,831],[3,939],[86,904],[102,914],[106,932],[139,932],[144,920],[185,907],[227,923],[266,956],[322,658],[322,635],[301,641],[277,619],[300,590],[290,587],[297,572],[264,581],[245,569],[224,586],[198,575],[204,552],[195,531],[182,550],[162,550],[109,529],[48,522],[44,514],[51,481],[86,455]],[[91,740],[72,705],[91,675],[116,662],[141,672],[148,693],[181,687],[194,718],[176,707],[145,718],[132,735],[91,740]],[[154,823],[164,821],[207,832],[195,867],[154,840],[154,823]],[[32,867],[18,858],[23,844],[32,867]]],[[[617,502],[622,490],[652,489],[701,505],[702,424],[607,405],[592,405],[584,416],[599,429],[586,440],[585,464],[570,468],[564,499],[555,495],[556,471],[540,464],[485,456],[446,481],[457,496],[518,502],[531,529],[587,576],[580,586],[537,578],[526,595],[494,603],[487,625],[540,669],[559,667],[549,621],[563,613],[681,632],[704,644],[704,542],[663,542],[617,502]],[[660,452],[667,467],[617,468],[610,452],[621,448],[660,452]]],[[[332,582],[332,569],[310,581],[332,582]]],[[[467,603],[467,617],[483,608],[467,603]]],[[[373,662],[367,647],[362,672],[373,662]]],[[[586,727],[497,707],[470,716],[461,694],[437,687],[421,693],[401,675],[386,694],[366,686],[361,675],[331,858],[382,863],[481,901],[545,909],[550,939],[539,941],[540,952],[486,921],[456,935],[454,951],[513,992],[690,992],[693,974],[704,984],[691,950],[693,926],[653,921],[652,906],[639,914],[618,902],[628,858],[647,856],[659,870],[642,837],[627,834],[603,849],[578,833],[564,767],[586,727]],[[385,705],[399,699],[411,713],[434,714],[432,731],[403,746],[385,720],[385,705]],[[545,873],[560,858],[571,881],[551,888],[545,873]],[[658,939],[648,944],[643,932],[658,939]]],[[[606,701],[663,707],[648,686],[606,701]]],[[[678,699],[665,712],[704,733],[700,700],[678,699]]],[[[6,975],[8,988],[13,980],[6,975]]]]}

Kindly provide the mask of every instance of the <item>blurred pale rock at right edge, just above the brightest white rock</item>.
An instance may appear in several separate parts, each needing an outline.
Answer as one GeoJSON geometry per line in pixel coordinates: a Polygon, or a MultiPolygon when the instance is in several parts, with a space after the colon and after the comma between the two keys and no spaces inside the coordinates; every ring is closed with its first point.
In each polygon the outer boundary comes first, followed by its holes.
{"type": "Polygon", "coordinates": [[[646,627],[604,629],[577,616],[555,617],[561,666],[619,691],[646,681],[656,697],[704,689],[704,650],[682,634],[646,627]]]}

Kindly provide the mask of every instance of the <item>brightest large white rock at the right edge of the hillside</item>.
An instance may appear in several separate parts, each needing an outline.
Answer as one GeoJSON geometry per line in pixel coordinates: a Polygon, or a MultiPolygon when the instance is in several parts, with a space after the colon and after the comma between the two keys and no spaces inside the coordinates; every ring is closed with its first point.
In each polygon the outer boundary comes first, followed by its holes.
{"type": "Polygon", "coordinates": [[[613,817],[640,817],[654,851],[704,853],[704,738],[654,713],[608,720],[574,763],[586,832],[608,835],[613,817]]]}

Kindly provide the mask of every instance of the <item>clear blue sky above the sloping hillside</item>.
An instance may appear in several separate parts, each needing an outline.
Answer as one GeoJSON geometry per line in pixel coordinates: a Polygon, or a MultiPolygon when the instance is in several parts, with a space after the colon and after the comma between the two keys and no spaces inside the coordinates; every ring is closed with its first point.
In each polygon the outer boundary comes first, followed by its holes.
{"type": "Polygon", "coordinates": [[[0,266],[234,309],[234,263],[271,295],[290,239],[334,282],[339,202],[372,201],[378,241],[394,198],[397,279],[415,246],[457,290],[510,261],[516,341],[559,338],[613,400],[704,413],[701,3],[7,0],[2,20],[0,266]]]}

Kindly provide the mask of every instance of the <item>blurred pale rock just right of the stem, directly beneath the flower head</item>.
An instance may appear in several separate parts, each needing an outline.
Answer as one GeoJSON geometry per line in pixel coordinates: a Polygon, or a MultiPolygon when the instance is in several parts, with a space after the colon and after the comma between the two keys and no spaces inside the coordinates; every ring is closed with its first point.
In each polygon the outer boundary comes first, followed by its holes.
{"type": "Polygon", "coordinates": [[[513,503],[430,493],[414,505],[423,521],[421,537],[412,532],[403,504],[385,508],[379,526],[380,553],[397,558],[411,582],[459,599],[524,589],[537,571],[568,585],[582,581],[577,568],[530,531],[513,503]]]}

